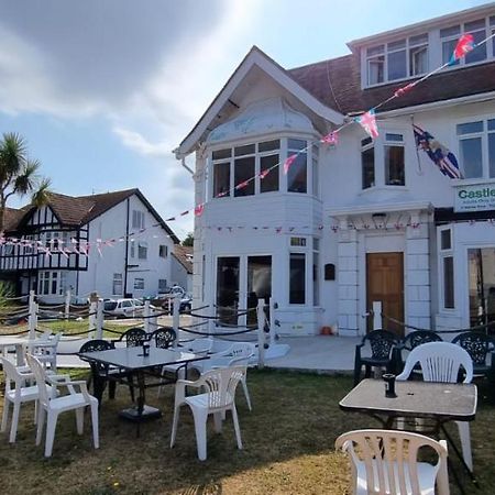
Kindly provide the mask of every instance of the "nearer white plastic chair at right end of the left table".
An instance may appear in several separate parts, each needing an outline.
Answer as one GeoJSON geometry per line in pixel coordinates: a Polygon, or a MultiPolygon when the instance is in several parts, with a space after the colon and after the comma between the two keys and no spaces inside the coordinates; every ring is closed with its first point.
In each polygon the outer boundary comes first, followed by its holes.
{"type": "Polygon", "coordinates": [[[211,370],[201,375],[196,382],[177,381],[175,385],[170,448],[175,444],[180,406],[187,405],[190,407],[195,420],[196,443],[200,461],[205,461],[207,458],[208,415],[213,415],[215,429],[217,432],[220,432],[222,429],[222,414],[231,410],[238,448],[242,449],[241,430],[235,409],[235,388],[245,375],[245,366],[224,367],[211,370]],[[186,387],[202,388],[202,391],[198,395],[186,396],[186,387]]]}

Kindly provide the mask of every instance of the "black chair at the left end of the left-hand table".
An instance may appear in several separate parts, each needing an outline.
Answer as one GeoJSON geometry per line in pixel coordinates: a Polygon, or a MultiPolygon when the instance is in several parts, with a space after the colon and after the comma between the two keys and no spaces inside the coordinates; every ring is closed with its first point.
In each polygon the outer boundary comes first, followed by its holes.
{"type": "MultiPolygon", "coordinates": [[[[79,352],[108,351],[110,349],[114,349],[112,342],[102,339],[95,339],[84,343],[79,349],[79,352]]],[[[81,360],[89,362],[89,365],[91,366],[94,391],[98,402],[101,404],[101,397],[103,395],[105,387],[107,386],[107,382],[110,382],[108,389],[109,397],[111,399],[114,398],[117,381],[122,377],[128,377],[128,375],[121,372],[118,367],[110,366],[109,364],[95,363],[94,361],[85,360],[84,358],[81,358],[81,360]],[[98,385],[96,383],[97,381],[98,385]]],[[[91,382],[91,378],[89,382],[91,382]]],[[[134,402],[134,387],[132,386],[132,383],[129,383],[129,391],[131,393],[131,398],[134,402]]]]}

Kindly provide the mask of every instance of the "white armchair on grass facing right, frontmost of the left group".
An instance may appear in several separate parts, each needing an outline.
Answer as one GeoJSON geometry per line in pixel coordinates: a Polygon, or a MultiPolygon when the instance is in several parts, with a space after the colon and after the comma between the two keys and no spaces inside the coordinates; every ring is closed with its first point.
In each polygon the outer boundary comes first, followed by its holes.
{"type": "Polygon", "coordinates": [[[67,410],[75,410],[77,432],[82,435],[86,406],[90,406],[91,408],[92,440],[95,449],[98,449],[98,400],[92,395],[89,395],[86,382],[70,381],[68,376],[63,375],[48,375],[43,364],[32,354],[26,354],[26,360],[36,378],[38,388],[36,446],[41,443],[45,417],[47,416],[45,457],[50,458],[52,455],[58,415],[67,410]],[[47,383],[52,387],[65,386],[69,394],[56,397],[47,383]],[[74,387],[79,387],[80,392],[77,393],[74,387]]]}

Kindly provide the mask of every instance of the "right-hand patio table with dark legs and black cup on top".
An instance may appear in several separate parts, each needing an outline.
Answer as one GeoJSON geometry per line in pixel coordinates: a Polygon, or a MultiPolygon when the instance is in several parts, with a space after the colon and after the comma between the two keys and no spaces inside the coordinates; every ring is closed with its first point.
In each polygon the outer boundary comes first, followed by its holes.
{"type": "MultiPolygon", "coordinates": [[[[474,384],[396,381],[396,397],[385,396],[385,382],[365,378],[340,403],[344,411],[364,413],[391,429],[396,418],[426,418],[433,420],[455,451],[473,482],[473,473],[464,462],[459,448],[444,428],[448,421],[473,421],[476,415],[477,391],[474,384]]],[[[454,473],[457,474],[457,473],[454,473]]]]}

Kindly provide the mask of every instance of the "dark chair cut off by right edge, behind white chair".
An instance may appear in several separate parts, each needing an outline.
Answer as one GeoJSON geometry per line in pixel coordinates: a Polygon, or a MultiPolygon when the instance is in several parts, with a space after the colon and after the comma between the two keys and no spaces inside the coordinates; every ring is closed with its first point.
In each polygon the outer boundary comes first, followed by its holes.
{"type": "Polygon", "coordinates": [[[455,336],[452,343],[468,351],[473,360],[473,374],[495,381],[495,342],[492,337],[469,330],[455,336]]]}

